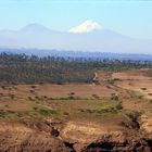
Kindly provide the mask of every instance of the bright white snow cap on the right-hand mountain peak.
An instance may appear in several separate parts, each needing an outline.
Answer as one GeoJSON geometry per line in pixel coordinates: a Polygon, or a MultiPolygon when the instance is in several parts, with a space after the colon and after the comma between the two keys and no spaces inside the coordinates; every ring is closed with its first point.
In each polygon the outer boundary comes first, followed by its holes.
{"type": "Polygon", "coordinates": [[[83,24],[69,29],[69,33],[90,33],[92,30],[101,29],[102,26],[91,20],[85,21],[83,24]]]}

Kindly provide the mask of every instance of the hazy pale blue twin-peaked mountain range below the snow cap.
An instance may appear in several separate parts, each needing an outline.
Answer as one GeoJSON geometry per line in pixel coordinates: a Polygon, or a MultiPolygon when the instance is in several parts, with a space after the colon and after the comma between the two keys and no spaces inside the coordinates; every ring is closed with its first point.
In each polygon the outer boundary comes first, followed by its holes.
{"type": "Polygon", "coordinates": [[[0,47],[152,53],[152,40],[130,38],[105,28],[80,34],[56,31],[40,24],[30,24],[20,30],[0,30],[0,47]]]}

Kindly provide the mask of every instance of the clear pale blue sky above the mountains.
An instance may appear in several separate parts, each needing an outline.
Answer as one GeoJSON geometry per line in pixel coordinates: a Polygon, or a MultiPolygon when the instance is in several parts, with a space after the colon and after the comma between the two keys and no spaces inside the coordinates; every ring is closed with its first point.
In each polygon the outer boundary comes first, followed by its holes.
{"type": "Polygon", "coordinates": [[[152,39],[150,0],[0,0],[0,29],[39,23],[68,30],[86,20],[124,35],[152,39]]]}

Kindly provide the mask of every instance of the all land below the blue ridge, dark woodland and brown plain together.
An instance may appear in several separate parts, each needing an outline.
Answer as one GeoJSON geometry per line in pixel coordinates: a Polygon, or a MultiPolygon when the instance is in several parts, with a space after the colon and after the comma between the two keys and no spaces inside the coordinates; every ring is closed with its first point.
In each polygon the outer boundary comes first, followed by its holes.
{"type": "Polygon", "coordinates": [[[145,151],[152,63],[0,54],[0,151],[145,151]]]}

